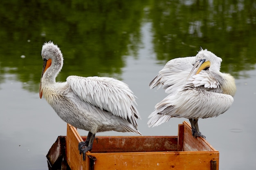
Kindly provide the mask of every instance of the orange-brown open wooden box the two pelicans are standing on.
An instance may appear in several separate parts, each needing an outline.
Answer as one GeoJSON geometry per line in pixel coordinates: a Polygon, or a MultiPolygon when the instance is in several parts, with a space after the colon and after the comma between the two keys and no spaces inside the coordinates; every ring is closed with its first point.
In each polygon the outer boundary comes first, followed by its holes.
{"type": "Polygon", "coordinates": [[[202,137],[191,135],[186,121],[178,136],[95,137],[91,152],[79,154],[81,137],[67,125],[66,161],[72,170],[218,170],[219,152],[202,137]],[[96,158],[96,159],[95,159],[96,158]]]}

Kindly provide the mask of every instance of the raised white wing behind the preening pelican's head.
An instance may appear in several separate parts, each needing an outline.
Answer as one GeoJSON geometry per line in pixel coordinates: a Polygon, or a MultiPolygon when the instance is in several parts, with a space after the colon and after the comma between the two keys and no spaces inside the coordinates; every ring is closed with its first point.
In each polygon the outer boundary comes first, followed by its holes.
{"type": "Polygon", "coordinates": [[[164,68],[159,71],[159,74],[150,82],[150,88],[156,86],[160,88],[162,86],[164,89],[168,88],[166,93],[172,93],[174,90],[170,91],[169,87],[173,85],[178,87],[184,84],[194,63],[195,57],[180,57],[168,61],[164,68]]]}

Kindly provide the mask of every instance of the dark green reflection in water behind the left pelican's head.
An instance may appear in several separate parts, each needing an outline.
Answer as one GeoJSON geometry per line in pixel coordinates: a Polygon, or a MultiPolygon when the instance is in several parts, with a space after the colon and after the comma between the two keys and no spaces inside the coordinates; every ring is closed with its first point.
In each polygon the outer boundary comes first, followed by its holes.
{"type": "Polygon", "coordinates": [[[70,74],[118,78],[125,65],[122,56],[129,50],[136,54],[139,46],[145,7],[141,0],[2,3],[2,72],[15,73],[20,81],[29,82],[29,90],[38,91],[40,51],[46,41],[58,44],[68,63],[58,77],[61,80],[70,74]]]}

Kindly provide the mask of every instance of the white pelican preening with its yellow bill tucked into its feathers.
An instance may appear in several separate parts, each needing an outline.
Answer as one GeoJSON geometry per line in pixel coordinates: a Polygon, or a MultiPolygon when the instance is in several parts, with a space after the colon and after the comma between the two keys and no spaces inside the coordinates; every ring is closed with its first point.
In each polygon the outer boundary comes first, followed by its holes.
{"type": "Polygon", "coordinates": [[[168,96],[155,105],[148,126],[158,126],[171,117],[184,117],[191,123],[193,137],[205,138],[198,119],[217,117],[227,111],[236,93],[234,77],[220,72],[221,62],[207,49],[201,49],[195,57],[167,62],[150,82],[150,88],[163,86],[168,96]]]}

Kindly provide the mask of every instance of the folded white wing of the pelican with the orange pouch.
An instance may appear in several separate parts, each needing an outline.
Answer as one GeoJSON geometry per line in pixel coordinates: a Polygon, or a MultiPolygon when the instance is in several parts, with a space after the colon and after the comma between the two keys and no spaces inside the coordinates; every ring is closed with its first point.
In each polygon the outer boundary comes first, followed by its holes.
{"type": "Polygon", "coordinates": [[[122,117],[137,127],[135,118],[140,119],[140,115],[135,106],[135,95],[124,82],[110,77],[69,76],[67,83],[83,101],[122,117]]]}

